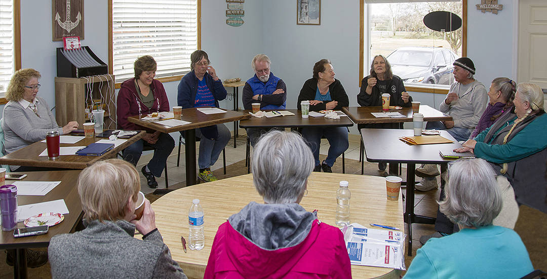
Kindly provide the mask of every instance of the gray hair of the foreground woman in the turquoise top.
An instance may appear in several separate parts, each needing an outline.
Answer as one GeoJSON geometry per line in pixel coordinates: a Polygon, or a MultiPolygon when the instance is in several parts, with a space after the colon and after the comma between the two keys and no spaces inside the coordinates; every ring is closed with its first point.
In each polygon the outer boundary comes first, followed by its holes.
{"type": "Polygon", "coordinates": [[[459,225],[475,228],[491,225],[502,210],[496,173],[483,159],[452,162],[445,193],[439,210],[459,225]]]}

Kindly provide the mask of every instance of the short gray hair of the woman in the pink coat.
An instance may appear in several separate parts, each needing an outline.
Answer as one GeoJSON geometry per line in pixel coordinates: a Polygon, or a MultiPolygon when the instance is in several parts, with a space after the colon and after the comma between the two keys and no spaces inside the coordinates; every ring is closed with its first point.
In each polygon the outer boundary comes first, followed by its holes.
{"type": "Polygon", "coordinates": [[[253,150],[254,187],[268,204],[296,202],[313,166],[313,154],[302,136],[272,130],[260,137],[253,150]]]}

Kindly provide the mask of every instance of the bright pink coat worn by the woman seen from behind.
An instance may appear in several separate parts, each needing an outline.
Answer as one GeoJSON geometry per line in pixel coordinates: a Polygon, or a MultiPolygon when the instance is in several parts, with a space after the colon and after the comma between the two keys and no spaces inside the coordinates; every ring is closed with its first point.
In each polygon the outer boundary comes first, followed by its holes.
{"type": "Polygon", "coordinates": [[[317,219],[304,241],[274,250],[258,247],[225,222],[204,278],[351,278],[351,265],[340,229],[317,219]]]}

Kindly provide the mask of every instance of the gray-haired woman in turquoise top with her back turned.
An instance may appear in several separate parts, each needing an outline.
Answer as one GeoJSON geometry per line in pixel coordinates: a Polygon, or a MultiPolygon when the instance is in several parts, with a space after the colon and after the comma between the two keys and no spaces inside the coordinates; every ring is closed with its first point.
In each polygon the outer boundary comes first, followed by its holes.
{"type": "Polygon", "coordinates": [[[490,164],[482,159],[457,160],[449,175],[439,210],[460,231],[427,241],[404,278],[521,278],[532,272],[520,236],[492,225],[502,209],[502,196],[490,164]]]}

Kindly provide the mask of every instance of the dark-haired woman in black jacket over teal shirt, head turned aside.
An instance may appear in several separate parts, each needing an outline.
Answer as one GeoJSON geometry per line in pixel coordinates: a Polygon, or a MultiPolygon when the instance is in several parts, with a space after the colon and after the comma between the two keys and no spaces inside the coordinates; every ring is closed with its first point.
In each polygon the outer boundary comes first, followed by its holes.
{"type": "MultiPolygon", "coordinates": [[[[309,111],[318,112],[325,109],[340,111],[342,107],[350,106],[346,90],[340,83],[340,80],[334,78],[334,67],[328,59],[321,59],[313,66],[313,77],[306,80],[300,95],[298,95],[298,109],[302,109],[302,101],[309,101],[309,111]]],[[[346,127],[306,127],[302,128],[302,136],[309,144],[313,157],[315,158],[315,168],[313,171],[333,172],[331,167],[336,158],[346,151],[349,146],[346,127]],[[321,138],[326,137],[330,147],[327,159],[319,161],[319,146],[321,138]]]]}

